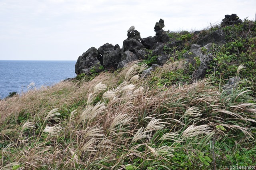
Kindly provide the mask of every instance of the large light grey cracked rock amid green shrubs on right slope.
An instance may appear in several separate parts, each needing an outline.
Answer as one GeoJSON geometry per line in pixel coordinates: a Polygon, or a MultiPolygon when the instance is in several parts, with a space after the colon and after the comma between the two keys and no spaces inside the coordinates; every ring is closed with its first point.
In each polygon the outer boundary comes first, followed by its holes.
{"type": "Polygon", "coordinates": [[[193,66],[196,66],[195,57],[199,57],[200,65],[198,69],[193,73],[193,78],[195,80],[199,80],[200,78],[204,78],[206,74],[206,70],[209,69],[208,64],[212,61],[212,54],[204,54],[211,51],[212,44],[206,44],[204,47],[200,47],[198,44],[192,44],[190,50],[184,54],[184,58],[187,59],[193,66]],[[202,49],[204,49],[202,52],[202,49]]]}

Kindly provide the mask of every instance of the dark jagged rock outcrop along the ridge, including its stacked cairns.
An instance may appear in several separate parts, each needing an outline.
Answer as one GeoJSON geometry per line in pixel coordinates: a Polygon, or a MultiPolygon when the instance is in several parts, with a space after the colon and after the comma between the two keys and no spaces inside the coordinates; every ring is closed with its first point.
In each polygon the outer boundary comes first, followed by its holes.
{"type": "MultiPolygon", "coordinates": [[[[225,15],[222,20],[221,26],[228,26],[232,24],[241,23],[242,20],[236,14],[225,15]]],[[[170,41],[168,34],[163,30],[164,20],[160,19],[154,26],[156,35],[154,37],[149,36],[146,38],[140,37],[140,32],[135,30],[134,26],[131,26],[127,31],[128,38],[123,41],[123,46],[120,48],[118,44],[115,46],[106,43],[100,46],[98,49],[92,47],[79,56],[75,71],[76,74],[86,73],[90,74],[90,70],[94,69],[96,72],[104,69],[118,69],[125,67],[129,62],[148,59],[148,57],[156,56],[156,63],[151,68],[143,72],[144,76],[150,74],[156,66],[162,66],[170,57],[173,57],[172,53],[166,52],[164,48],[182,50],[184,48],[184,40],[170,41]]],[[[186,33],[188,34],[188,33],[186,33]]],[[[199,57],[200,65],[196,66],[197,70],[193,73],[194,79],[198,80],[204,78],[206,70],[209,68],[208,64],[212,60],[212,54],[204,54],[205,50],[210,52],[212,43],[223,44],[225,40],[225,34],[222,29],[218,29],[210,34],[201,34],[201,31],[194,32],[198,36],[198,41],[193,44],[188,52],[183,57],[193,66],[195,66],[195,57],[199,57]],[[200,38],[200,35],[203,35],[200,38]],[[204,52],[202,49],[204,48],[204,52]]]]}

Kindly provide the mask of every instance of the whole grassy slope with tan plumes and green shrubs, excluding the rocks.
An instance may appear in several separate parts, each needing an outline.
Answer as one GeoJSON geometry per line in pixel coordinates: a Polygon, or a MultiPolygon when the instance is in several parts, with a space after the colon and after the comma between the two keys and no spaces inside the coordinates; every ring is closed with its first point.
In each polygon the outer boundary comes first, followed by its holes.
{"type": "MultiPolygon", "coordinates": [[[[144,79],[139,76],[146,65],[134,62],[114,73],[82,75],[1,100],[0,169],[196,170],[255,164],[255,22],[222,28],[227,42],[213,46],[206,79],[191,83],[196,66],[182,60],[198,37],[216,29],[198,35],[169,32],[183,44],[164,48],[174,57],[144,79]],[[246,68],[237,72],[240,64],[246,68]],[[222,90],[229,76],[238,75],[237,89],[222,90]]],[[[155,56],[147,58],[147,64],[155,62],[155,56]]]]}

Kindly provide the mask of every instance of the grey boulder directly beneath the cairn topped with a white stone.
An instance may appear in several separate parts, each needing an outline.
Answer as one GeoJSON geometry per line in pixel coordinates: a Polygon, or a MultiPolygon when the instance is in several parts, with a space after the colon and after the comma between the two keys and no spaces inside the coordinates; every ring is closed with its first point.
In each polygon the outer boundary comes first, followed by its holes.
{"type": "Polygon", "coordinates": [[[123,52],[130,51],[135,55],[138,54],[138,50],[144,48],[141,42],[134,38],[130,38],[128,40],[124,40],[123,42],[123,52]]]}

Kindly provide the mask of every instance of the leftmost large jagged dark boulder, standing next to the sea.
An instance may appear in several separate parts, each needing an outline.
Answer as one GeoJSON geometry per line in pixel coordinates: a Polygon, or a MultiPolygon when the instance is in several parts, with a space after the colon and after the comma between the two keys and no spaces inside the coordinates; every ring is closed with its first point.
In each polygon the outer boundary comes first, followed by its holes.
{"type": "Polygon", "coordinates": [[[92,69],[92,67],[94,67],[96,72],[100,71],[98,69],[98,67],[100,66],[100,61],[98,60],[98,58],[100,58],[98,50],[95,47],[89,48],[86,52],[82,54],[82,56],[78,57],[77,62],[75,64],[76,74],[89,74],[90,69],[92,69]]]}

